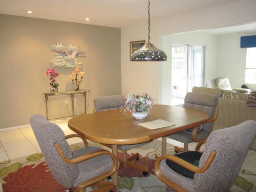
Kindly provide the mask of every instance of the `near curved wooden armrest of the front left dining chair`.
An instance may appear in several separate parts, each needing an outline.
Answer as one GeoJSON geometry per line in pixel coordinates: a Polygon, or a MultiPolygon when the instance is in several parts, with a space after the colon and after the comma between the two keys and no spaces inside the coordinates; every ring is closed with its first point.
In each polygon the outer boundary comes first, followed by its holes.
{"type": "Polygon", "coordinates": [[[64,152],[60,148],[60,145],[58,143],[54,143],[54,146],[55,146],[56,150],[58,151],[62,160],[64,160],[64,162],[66,162],[68,164],[80,163],[82,161],[88,160],[90,158],[93,158],[93,157],[96,157],[96,156],[99,156],[99,155],[109,155],[112,158],[113,165],[112,165],[110,170],[108,170],[104,174],[101,174],[100,176],[96,176],[92,179],[87,180],[86,182],[80,183],[78,185],[78,188],[84,188],[84,187],[90,186],[90,185],[92,185],[96,182],[99,182],[101,180],[104,180],[108,176],[113,175],[118,169],[118,160],[117,160],[116,156],[114,154],[112,154],[111,152],[109,152],[109,151],[97,150],[97,151],[90,152],[88,154],[84,154],[84,155],[76,157],[76,158],[67,159],[64,152]]]}

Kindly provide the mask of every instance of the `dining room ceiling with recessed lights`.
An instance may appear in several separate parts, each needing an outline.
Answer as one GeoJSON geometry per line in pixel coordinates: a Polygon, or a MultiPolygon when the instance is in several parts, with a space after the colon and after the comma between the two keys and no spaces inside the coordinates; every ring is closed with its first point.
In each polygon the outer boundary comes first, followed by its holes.
{"type": "MultiPolygon", "coordinates": [[[[151,0],[150,16],[161,18],[235,1],[151,0]]],[[[147,0],[0,0],[0,13],[121,28],[147,20],[147,0]]]]}

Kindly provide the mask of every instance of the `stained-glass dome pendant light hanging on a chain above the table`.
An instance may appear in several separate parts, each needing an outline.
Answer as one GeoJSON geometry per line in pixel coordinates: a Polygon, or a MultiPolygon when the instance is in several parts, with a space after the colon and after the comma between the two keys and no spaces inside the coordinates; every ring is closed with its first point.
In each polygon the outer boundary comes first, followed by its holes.
{"type": "Polygon", "coordinates": [[[165,52],[156,48],[150,40],[150,2],[148,0],[148,43],[140,49],[134,51],[130,58],[131,61],[166,61],[167,56],[165,52]]]}

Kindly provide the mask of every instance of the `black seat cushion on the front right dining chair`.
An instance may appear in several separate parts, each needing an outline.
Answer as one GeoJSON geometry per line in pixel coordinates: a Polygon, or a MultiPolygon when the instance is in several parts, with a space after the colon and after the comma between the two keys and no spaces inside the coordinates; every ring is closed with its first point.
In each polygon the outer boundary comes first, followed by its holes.
{"type": "MultiPolygon", "coordinates": [[[[186,162],[194,164],[195,166],[198,166],[202,153],[197,151],[187,151],[187,152],[178,153],[175,156],[185,160],[186,162]]],[[[194,178],[194,175],[195,175],[194,172],[180,166],[179,164],[176,164],[173,161],[168,159],[166,159],[166,164],[175,172],[191,179],[194,178]]]]}

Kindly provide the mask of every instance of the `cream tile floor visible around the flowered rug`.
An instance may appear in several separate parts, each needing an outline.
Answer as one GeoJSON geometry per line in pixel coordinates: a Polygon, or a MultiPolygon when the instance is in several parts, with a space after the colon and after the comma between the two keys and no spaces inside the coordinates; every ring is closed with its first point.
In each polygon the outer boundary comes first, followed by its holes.
{"type": "MultiPolygon", "coordinates": [[[[67,120],[61,120],[55,123],[62,128],[65,135],[75,133],[68,128],[67,120]]],[[[82,142],[82,140],[80,138],[70,138],[67,142],[68,144],[74,144],[82,142]]],[[[167,142],[181,147],[183,145],[181,142],[172,139],[167,139],[167,142]]],[[[196,143],[191,143],[189,144],[188,149],[194,150],[195,147],[196,143]]],[[[201,147],[201,150],[204,150],[204,145],[201,147]]],[[[41,152],[41,150],[31,127],[0,131],[0,162],[38,152],[41,152]]],[[[256,152],[254,150],[249,150],[243,166],[253,167],[256,170],[255,160],[256,152]]],[[[0,192],[2,192],[2,185],[0,185],[0,192]]]]}

